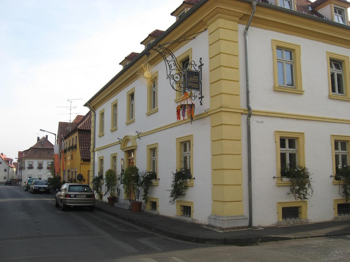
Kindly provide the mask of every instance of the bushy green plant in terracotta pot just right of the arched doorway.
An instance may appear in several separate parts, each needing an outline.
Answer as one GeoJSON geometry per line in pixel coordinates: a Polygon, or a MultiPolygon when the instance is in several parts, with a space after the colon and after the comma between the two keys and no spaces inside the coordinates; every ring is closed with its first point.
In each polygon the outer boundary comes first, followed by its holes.
{"type": "MultiPolygon", "coordinates": [[[[139,188],[141,186],[141,180],[139,175],[139,169],[135,166],[127,167],[124,171],[123,176],[123,188],[124,192],[127,196],[130,196],[131,190],[134,192],[134,199],[136,200],[137,192],[139,192],[139,188]]],[[[140,212],[142,202],[140,201],[132,201],[131,202],[132,211],[140,212]]]]}

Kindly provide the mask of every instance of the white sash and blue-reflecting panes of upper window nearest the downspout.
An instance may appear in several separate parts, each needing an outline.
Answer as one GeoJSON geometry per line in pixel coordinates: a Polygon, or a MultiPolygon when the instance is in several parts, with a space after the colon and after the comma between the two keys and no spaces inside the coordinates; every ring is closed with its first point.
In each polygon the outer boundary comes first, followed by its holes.
{"type": "Polygon", "coordinates": [[[278,85],[293,87],[294,85],[294,53],[292,50],[277,48],[278,85]]]}

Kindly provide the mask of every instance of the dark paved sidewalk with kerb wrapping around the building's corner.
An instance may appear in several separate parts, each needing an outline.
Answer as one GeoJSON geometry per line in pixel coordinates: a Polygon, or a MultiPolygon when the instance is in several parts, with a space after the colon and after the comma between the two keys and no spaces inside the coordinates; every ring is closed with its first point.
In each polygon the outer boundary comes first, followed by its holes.
{"type": "Polygon", "coordinates": [[[350,234],[350,220],[217,232],[200,224],[144,211],[134,213],[101,200],[96,200],[95,209],[156,233],[196,243],[237,245],[350,234]]]}

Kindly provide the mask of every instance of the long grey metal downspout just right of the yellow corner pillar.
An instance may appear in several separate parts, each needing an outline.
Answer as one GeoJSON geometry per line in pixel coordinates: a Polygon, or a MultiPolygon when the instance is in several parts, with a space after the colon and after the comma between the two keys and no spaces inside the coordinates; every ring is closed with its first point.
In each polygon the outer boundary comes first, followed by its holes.
{"type": "Polygon", "coordinates": [[[253,226],[253,201],[252,201],[252,146],[250,134],[250,117],[252,116],[252,108],[250,107],[250,90],[249,90],[249,66],[248,66],[248,29],[255,13],[256,1],[252,1],[252,13],[250,14],[247,26],[244,29],[244,45],[245,45],[245,78],[247,90],[247,143],[248,143],[248,195],[249,195],[249,227],[253,226]]]}

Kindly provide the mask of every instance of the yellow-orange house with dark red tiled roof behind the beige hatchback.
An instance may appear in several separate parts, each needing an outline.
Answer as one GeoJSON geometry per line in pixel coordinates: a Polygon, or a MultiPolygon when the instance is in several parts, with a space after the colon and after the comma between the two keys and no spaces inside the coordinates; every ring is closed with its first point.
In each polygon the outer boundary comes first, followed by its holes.
{"type": "Polygon", "coordinates": [[[91,111],[63,139],[61,180],[89,184],[91,111]]]}

